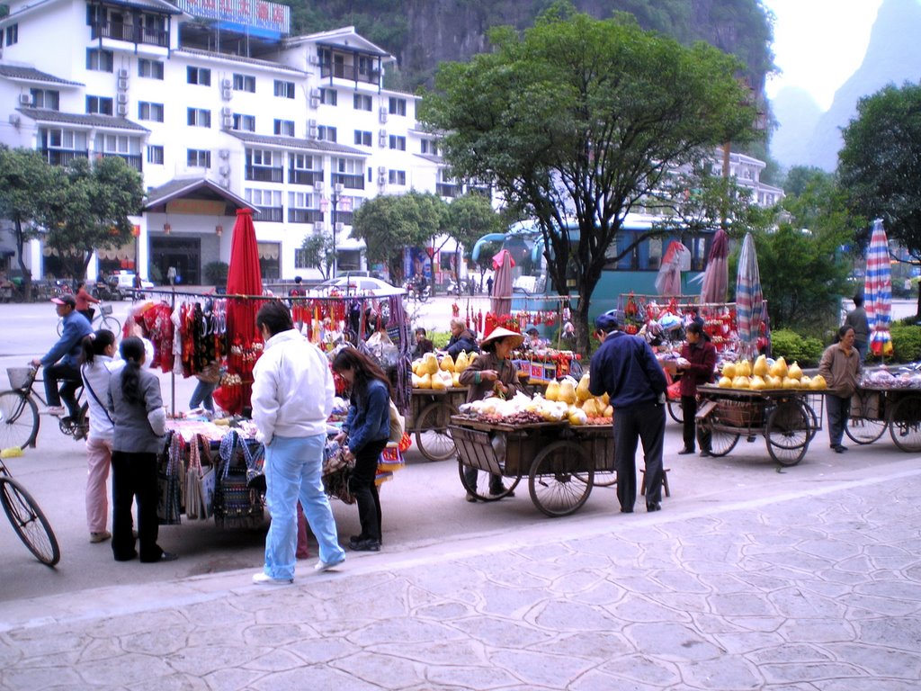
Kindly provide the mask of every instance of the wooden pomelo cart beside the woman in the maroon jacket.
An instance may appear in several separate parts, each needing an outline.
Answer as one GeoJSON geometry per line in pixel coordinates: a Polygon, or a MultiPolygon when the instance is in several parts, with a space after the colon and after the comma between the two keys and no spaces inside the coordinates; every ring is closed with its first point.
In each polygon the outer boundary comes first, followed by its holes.
{"type": "Polygon", "coordinates": [[[821,427],[807,398],[809,390],[752,391],[698,386],[697,424],[711,435],[714,456],[732,451],[740,437],[754,441],[763,436],[767,451],[781,465],[802,461],[809,443],[821,427]]]}

